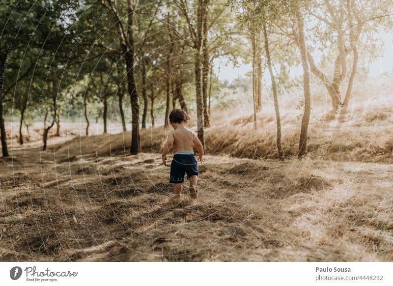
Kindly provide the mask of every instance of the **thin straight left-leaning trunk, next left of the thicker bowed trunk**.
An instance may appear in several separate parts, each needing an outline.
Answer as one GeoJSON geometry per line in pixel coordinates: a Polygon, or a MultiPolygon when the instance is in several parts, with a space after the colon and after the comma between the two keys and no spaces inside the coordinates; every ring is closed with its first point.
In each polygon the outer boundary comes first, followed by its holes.
{"type": "Polygon", "coordinates": [[[279,151],[279,158],[280,161],[284,158],[284,153],[282,152],[281,147],[281,119],[280,119],[280,109],[279,109],[279,100],[277,96],[277,86],[276,86],[276,79],[273,74],[272,69],[272,60],[270,58],[270,51],[269,51],[269,39],[267,37],[267,30],[266,30],[266,22],[263,23],[263,36],[265,39],[265,52],[266,52],[266,59],[267,65],[269,68],[270,79],[272,81],[272,89],[273,89],[273,98],[274,98],[274,108],[276,110],[276,121],[277,121],[277,150],[279,151]]]}

